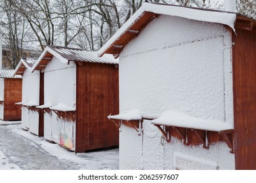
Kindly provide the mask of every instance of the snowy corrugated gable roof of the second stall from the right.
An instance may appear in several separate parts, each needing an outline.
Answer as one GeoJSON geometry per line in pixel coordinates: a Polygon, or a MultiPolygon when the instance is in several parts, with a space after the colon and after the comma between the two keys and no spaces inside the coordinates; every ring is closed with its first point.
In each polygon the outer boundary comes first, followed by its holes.
{"type": "Polygon", "coordinates": [[[95,51],[66,48],[61,46],[47,46],[39,59],[37,59],[35,65],[33,65],[32,71],[35,69],[44,69],[53,56],[60,59],[63,63],[69,63],[69,61],[84,61],[92,63],[118,64],[118,59],[114,59],[112,56],[98,58],[95,51]]]}

